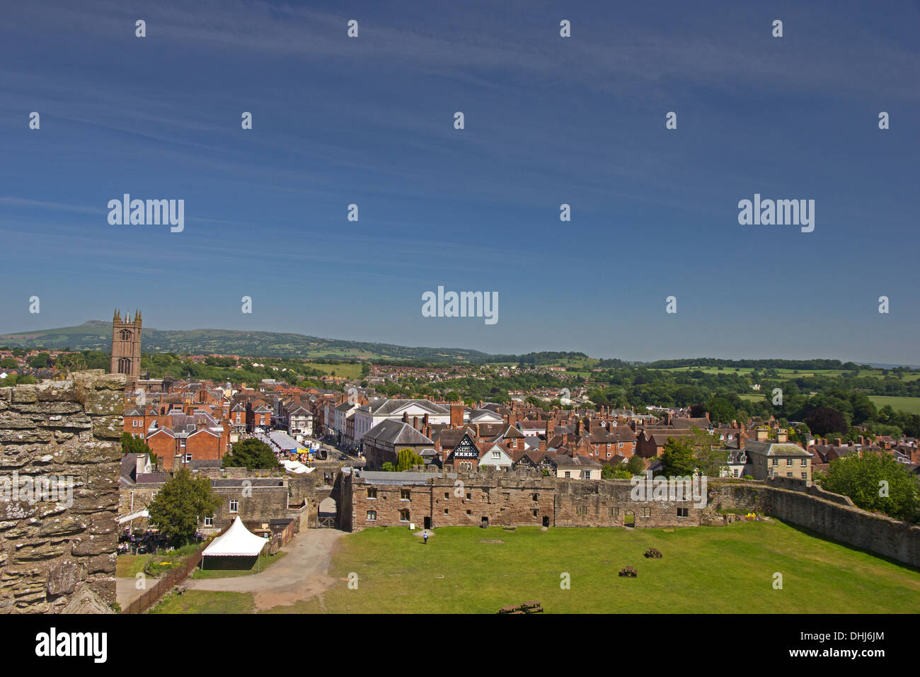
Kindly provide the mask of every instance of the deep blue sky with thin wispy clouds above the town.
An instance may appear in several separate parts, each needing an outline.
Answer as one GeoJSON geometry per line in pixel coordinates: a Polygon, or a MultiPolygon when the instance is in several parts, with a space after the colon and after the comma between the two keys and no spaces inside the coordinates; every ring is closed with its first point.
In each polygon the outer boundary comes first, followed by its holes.
{"type": "Polygon", "coordinates": [[[118,306],[158,329],[920,364],[918,19],[907,2],[23,3],[0,26],[0,332],[118,306]],[[184,231],[110,226],[122,193],[184,199],[184,231]],[[739,225],[754,193],[815,200],[814,232],[739,225]],[[422,317],[438,286],[498,292],[498,323],[422,317]]]}

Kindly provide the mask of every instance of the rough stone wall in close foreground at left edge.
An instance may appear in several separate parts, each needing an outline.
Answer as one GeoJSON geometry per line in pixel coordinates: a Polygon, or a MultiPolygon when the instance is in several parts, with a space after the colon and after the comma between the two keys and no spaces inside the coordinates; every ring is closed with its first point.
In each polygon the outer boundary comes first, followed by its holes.
{"type": "Polygon", "coordinates": [[[0,612],[115,602],[124,387],[97,369],[0,388],[0,612]]]}

